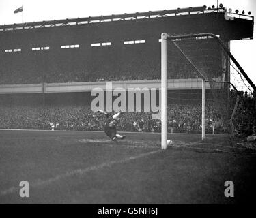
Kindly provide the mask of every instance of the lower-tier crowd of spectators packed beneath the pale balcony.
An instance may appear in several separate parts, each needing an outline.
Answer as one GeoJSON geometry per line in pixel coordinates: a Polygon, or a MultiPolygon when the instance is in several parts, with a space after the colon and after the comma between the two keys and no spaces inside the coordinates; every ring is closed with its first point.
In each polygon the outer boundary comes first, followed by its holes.
{"type": "MultiPolygon", "coordinates": [[[[161,122],[152,119],[153,112],[126,112],[119,122],[119,131],[158,132],[161,122]]],[[[221,119],[218,111],[207,108],[207,131],[212,123],[221,119]]],[[[92,112],[89,106],[1,106],[2,129],[51,129],[50,123],[59,130],[102,130],[105,117],[92,112]]],[[[201,106],[172,104],[168,106],[168,131],[199,133],[201,131],[201,106]]],[[[222,131],[223,129],[220,129],[222,131]]]]}

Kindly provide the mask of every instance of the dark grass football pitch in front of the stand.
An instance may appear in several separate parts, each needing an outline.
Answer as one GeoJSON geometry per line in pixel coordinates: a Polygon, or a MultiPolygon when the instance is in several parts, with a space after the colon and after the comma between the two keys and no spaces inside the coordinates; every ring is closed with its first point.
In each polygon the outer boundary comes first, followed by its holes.
{"type": "MultiPolygon", "coordinates": [[[[256,155],[227,136],[0,131],[0,204],[235,204],[255,193],[256,155]],[[20,198],[20,181],[29,198],[20,198]],[[234,198],[224,183],[233,181],[234,198]]],[[[251,202],[252,203],[252,202],[251,202]]]]}

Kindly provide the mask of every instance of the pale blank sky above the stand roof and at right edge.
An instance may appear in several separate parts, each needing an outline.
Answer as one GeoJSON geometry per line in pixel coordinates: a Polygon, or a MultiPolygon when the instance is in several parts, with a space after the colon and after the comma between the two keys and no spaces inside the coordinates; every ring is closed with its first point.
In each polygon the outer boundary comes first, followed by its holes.
{"type": "MultiPolygon", "coordinates": [[[[240,12],[244,10],[246,14],[251,11],[253,16],[256,14],[255,0],[219,0],[218,3],[223,3],[224,7],[232,8],[233,11],[238,9],[240,12]]],[[[216,4],[217,0],[0,0],[0,25],[22,22],[22,13],[14,14],[14,10],[21,5],[24,22],[33,22],[216,4]]],[[[231,52],[256,84],[255,49],[256,40],[231,42],[231,52]]]]}

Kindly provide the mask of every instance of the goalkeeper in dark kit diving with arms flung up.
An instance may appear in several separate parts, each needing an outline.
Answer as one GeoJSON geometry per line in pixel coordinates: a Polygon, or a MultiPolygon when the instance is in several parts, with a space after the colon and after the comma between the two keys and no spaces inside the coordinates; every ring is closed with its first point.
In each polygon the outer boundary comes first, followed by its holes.
{"type": "Polygon", "coordinates": [[[101,114],[104,114],[106,116],[106,123],[104,125],[104,132],[106,136],[109,136],[111,140],[114,142],[117,142],[117,139],[124,139],[126,136],[122,136],[117,134],[117,123],[119,121],[119,116],[124,114],[124,112],[120,111],[117,114],[111,116],[110,113],[106,113],[103,110],[98,110],[101,114]]]}

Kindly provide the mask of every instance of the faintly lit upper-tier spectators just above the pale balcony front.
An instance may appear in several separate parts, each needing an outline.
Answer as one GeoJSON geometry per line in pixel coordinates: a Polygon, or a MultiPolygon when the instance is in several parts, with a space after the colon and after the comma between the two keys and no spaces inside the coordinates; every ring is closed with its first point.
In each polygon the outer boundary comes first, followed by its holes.
{"type": "MultiPolygon", "coordinates": [[[[115,67],[108,66],[102,69],[70,69],[52,70],[46,75],[35,72],[21,72],[20,70],[0,69],[0,84],[38,84],[63,82],[102,82],[102,81],[124,81],[124,80],[160,80],[160,65],[147,67],[115,67]]],[[[168,79],[199,78],[193,69],[176,68],[169,70],[168,79]]]]}

